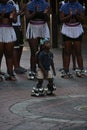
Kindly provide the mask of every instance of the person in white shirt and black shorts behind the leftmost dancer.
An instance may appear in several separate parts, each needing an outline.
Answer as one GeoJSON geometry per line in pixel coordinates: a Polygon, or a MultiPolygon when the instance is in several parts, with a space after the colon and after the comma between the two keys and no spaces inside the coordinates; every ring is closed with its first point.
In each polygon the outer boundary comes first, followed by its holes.
{"type": "Polygon", "coordinates": [[[24,46],[24,41],[23,41],[23,33],[22,33],[22,26],[21,26],[21,18],[20,16],[23,14],[23,11],[20,10],[19,6],[19,0],[9,0],[8,3],[12,4],[16,8],[17,12],[17,22],[12,23],[17,40],[15,42],[14,46],[14,51],[13,51],[13,64],[14,64],[14,71],[16,74],[23,74],[27,70],[23,67],[20,66],[20,60],[23,52],[23,46],[24,46]]]}

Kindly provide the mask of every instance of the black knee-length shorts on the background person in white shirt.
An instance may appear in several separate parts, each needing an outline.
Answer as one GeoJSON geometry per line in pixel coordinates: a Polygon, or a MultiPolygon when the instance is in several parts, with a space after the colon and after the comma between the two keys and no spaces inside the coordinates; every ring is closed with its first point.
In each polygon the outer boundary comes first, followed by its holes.
{"type": "Polygon", "coordinates": [[[22,33],[22,30],[21,30],[21,27],[20,26],[13,26],[13,28],[15,30],[16,37],[17,37],[17,40],[15,42],[15,48],[20,47],[20,46],[24,46],[23,33],[22,33]]]}

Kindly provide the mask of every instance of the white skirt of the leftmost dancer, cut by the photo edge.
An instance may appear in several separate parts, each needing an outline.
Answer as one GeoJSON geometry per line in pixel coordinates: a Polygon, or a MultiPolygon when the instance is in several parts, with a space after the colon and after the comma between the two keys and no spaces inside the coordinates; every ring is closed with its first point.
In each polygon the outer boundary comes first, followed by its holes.
{"type": "Polygon", "coordinates": [[[16,41],[16,34],[12,26],[0,26],[0,42],[9,43],[16,41]]]}

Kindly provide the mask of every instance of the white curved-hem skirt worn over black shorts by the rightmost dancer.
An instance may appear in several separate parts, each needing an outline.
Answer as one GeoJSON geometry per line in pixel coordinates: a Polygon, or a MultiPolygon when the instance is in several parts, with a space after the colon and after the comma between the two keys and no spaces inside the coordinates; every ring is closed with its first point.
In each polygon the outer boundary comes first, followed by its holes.
{"type": "Polygon", "coordinates": [[[61,33],[65,36],[68,36],[70,38],[78,38],[83,33],[83,27],[81,24],[76,25],[62,25],[61,33]]]}

